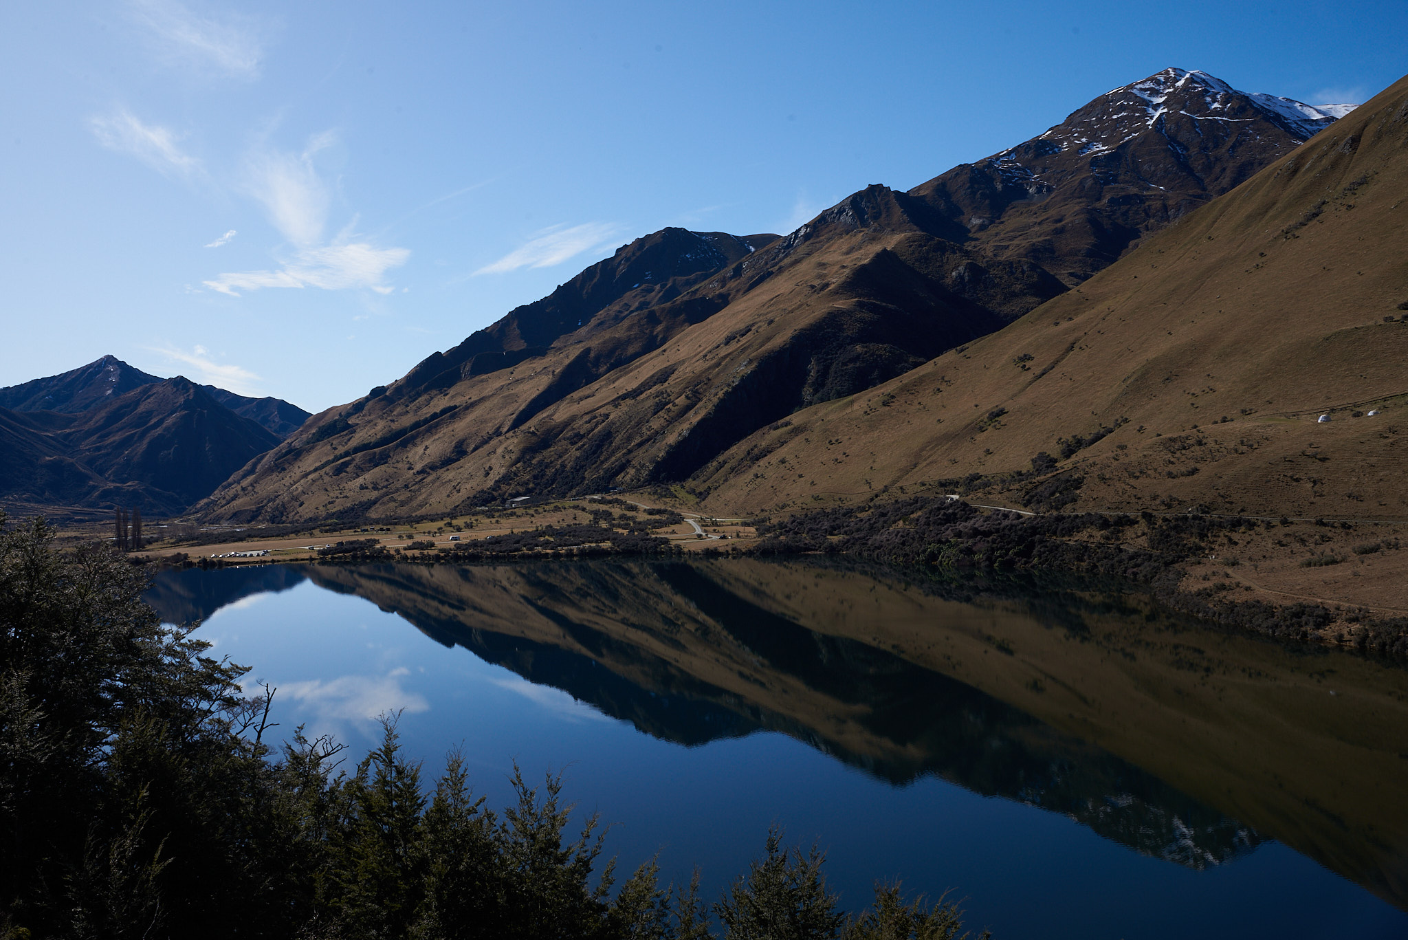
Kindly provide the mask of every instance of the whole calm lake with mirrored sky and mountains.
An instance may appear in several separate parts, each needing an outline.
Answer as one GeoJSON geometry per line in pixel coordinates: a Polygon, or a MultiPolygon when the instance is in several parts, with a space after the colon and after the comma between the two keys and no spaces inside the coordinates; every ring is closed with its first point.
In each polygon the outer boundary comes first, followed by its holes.
{"type": "Polygon", "coordinates": [[[1015,937],[1408,937],[1408,671],[1063,581],[804,562],[270,565],[148,600],[277,686],[276,734],[503,806],[562,771],[608,854],[707,896],[770,824],[1015,937]]]}

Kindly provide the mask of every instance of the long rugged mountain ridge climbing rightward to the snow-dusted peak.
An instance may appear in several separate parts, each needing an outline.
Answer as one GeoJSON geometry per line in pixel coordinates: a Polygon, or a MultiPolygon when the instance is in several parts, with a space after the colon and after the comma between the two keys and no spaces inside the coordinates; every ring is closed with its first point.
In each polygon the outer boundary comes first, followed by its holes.
{"type": "Polygon", "coordinates": [[[1000,330],[1342,111],[1169,69],[907,193],[870,186],[786,238],[646,235],[321,414],[201,509],[407,516],[687,479],[798,409],[1000,330]]]}

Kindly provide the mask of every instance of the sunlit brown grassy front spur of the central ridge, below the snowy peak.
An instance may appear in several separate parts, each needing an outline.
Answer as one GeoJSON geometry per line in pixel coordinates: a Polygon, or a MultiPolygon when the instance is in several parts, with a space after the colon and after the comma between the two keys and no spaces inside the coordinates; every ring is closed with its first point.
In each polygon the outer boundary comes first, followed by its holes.
{"type": "MultiPolygon", "coordinates": [[[[484,355],[515,351],[470,354],[484,342],[470,337],[469,351],[436,354],[311,420],[204,509],[231,519],[400,516],[520,490],[687,476],[756,427],[1001,324],[981,300],[943,286],[955,266],[979,266],[922,231],[903,193],[872,187],[703,283],[667,285],[669,300],[628,290],[510,368],[480,372],[484,355]]],[[[624,266],[658,235],[596,268],[624,266]]],[[[994,282],[1004,285],[1000,302],[1025,307],[1060,289],[1026,262],[964,290],[981,299],[994,282]]]]}

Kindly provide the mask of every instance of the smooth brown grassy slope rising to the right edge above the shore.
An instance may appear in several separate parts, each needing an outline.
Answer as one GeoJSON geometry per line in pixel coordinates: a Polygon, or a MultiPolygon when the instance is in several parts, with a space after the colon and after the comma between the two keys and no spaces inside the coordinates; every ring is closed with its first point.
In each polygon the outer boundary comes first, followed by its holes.
{"type": "Polygon", "coordinates": [[[693,482],[719,512],[811,505],[1029,471],[1064,438],[1077,506],[1408,517],[1405,193],[1408,79],[1001,333],[693,482]]]}

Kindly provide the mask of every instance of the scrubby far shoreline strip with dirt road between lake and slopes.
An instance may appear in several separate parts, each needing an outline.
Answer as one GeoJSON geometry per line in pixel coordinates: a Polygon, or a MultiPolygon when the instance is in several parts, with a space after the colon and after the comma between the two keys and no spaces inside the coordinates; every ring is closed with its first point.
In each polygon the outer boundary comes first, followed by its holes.
{"type": "MultiPolygon", "coordinates": [[[[625,500],[612,503],[628,505],[625,500]]],[[[605,520],[608,526],[535,526],[531,519],[524,519],[521,521],[527,524],[510,528],[508,534],[470,537],[431,547],[421,543],[414,551],[407,550],[410,545],[393,547],[377,538],[344,538],[317,550],[308,547],[310,551],[296,557],[268,554],[253,558],[191,558],[182,547],[173,545],[165,551],[144,554],[142,558],[158,567],[208,568],[308,561],[435,565],[817,555],[876,561],[921,572],[1032,571],[1114,576],[1139,585],[1140,590],[1173,610],[1225,629],[1373,653],[1394,660],[1408,657],[1408,617],[1397,616],[1394,609],[1374,610],[1356,603],[1326,602],[1300,592],[1267,589],[1252,582],[1247,572],[1249,568],[1259,572],[1262,565],[1242,564],[1239,558],[1225,554],[1229,544],[1250,547],[1256,538],[1271,543],[1284,552],[1288,541],[1281,533],[1288,531],[1302,545],[1315,545],[1318,540],[1328,541],[1326,531],[1345,536],[1347,527],[1342,531],[1318,524],[1314,533],[1316,541],[1311,541],[1286,520],[1273,524],[1247,517],[1198,514],[1024,514],[1002,509],[984,512],[948,497],[912,497],[852,510],[801,513],[780,521],[759,520],[756,537],[741,538],[735,534],[724,548],[724,540],[718,537],[670,540],[641,531],[635,526],[624,526],[624,519],[625,513],[615,520],[605,520]],[[1219,552],[1224,552],[1221,558],[1219,552]]],[[[697,524],[694,527],[698,528],[697,524]]],[[[1385,558],[1398,554],[1397,538],[1380,544],[1385,547],[1385,558]]],[[[1333,548],[1335,544],[1329,543],[1325,554],[1312,555],[1309,562],[1339,558],[1340,555],[1328,554],[1333,548]]],[[[1354,547],[1354,551],[1360,548],[1354,547]]],[[[1342,554],[1347,557],[1349,551],[1343,550],[1342,554]]],[[[1371,554],[1377,559],[1378,548],[1371,554]]],[[[1300,564],[1305,567],[1308,562],[1302,559],[1300,564]]]]}

